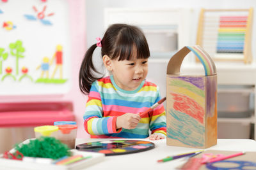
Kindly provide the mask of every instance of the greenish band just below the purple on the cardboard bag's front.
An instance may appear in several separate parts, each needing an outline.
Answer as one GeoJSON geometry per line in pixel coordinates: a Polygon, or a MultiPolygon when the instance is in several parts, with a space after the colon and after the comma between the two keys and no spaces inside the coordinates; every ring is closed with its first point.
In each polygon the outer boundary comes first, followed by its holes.
{"type": "Polygon", "coordinates": [[[195,85],[193,85],[187,81],[171,80],[170,85],[177,86],[177,87],[183,87],[185,89],[188,89],[191,92],[194,92],[195,94],[198,94],[199,96],[205,97],[204,90],[199,89],[198,87],[196,87],[195,85]]]}

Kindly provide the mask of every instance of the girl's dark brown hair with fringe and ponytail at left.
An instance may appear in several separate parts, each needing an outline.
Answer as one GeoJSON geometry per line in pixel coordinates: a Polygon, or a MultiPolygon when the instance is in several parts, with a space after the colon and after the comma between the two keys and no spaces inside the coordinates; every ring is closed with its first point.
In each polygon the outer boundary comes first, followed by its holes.
{"type": "MultiPolygon", "coordinates": [[[[110,25],[101,40],[101,55],[108,55],[110,59],[131,60],[132,48],[136,48],[138,59],[147,59],[150,56],[147,39],[136,26],[127,24],[110,25]]],[[[92,55],[97,47],[95,43],[84,55],[79,71],[79,88],[83,94],[88,94],[93,81],[99,79],[93,74],[99,73],[93,66],[92,55]]]]}

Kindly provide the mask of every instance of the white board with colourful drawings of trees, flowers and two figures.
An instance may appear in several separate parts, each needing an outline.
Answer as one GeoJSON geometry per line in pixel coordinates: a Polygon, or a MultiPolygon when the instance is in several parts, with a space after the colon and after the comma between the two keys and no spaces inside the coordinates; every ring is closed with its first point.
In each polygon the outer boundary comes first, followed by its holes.
{"type": "Polygon", "coordinates": [[[65,94],[70,87],[68,1],[0,3],[0,95],[65,94]]]}

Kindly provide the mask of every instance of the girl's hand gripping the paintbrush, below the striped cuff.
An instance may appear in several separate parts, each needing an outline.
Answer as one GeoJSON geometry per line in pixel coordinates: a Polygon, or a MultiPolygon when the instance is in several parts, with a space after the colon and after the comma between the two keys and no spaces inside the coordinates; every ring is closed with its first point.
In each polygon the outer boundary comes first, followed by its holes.
{"type": "Polygon", "coordinates": [[[116,129],[134,129],[140,122],[141,117],[135,113],[125,113],[116,118],[116,129]]]}

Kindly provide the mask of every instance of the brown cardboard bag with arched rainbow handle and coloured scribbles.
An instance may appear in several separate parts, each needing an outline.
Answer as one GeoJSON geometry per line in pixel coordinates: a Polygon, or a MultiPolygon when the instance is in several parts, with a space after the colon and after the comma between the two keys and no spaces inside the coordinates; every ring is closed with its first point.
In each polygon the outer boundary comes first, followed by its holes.
{"type": "Polygon", "coordinates": [[[207,52],[184,46],[168,62],[166,74],[167,145],[209,148],[217,144],[217,74],[207,52]],[[205,76],[180,75],[189,52],[204,66],[205,76]]]}

